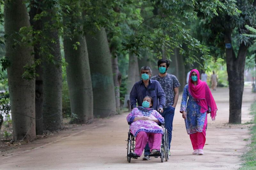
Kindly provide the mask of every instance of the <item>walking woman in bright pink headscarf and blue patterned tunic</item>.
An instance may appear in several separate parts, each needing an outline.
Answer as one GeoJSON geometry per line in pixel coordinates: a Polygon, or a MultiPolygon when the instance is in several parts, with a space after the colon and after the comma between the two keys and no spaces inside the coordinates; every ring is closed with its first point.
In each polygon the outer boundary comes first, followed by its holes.
{"type": "Polygon", "coordinates": [[[211,113],[212,120],[215,120],[217,110],[208,85],[200,80],[199,71],[191,70],[188,84],[184,87],[180,113],[194,149],[192,154],[204,154],[207,113],[211,113]]]}

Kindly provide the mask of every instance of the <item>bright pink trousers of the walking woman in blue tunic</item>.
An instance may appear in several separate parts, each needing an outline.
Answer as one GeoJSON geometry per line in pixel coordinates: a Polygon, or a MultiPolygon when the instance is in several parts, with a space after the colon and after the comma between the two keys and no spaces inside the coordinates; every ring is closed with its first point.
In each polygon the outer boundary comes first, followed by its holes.
{"type": "Polygon", "coordinates": [[[205,138],[206,126],[207,126],[207,114],[206,114],[205,121],[204,121],[203,132],[196,132],[196,133],[189,135],[194,150],[204,148],[204,144],[205,144],[205,140],[206,140],[206,138],[205,138]]]}

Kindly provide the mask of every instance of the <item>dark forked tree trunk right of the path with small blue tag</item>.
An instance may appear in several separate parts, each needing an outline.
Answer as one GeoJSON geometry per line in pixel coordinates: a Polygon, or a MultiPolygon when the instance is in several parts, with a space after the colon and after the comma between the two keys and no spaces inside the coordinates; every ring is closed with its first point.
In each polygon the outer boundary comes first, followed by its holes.
{"type": "MultiPolygon", "coordinates": [[[[226,30],[225,43],[231,44],[232,30],[226,30]]],[[[241,107],[244,92],[244,66],[248,47],[240,44],[237,57],[233,48],[226,48],[229,84],[229,123],[241,123],[241,107]]]]}

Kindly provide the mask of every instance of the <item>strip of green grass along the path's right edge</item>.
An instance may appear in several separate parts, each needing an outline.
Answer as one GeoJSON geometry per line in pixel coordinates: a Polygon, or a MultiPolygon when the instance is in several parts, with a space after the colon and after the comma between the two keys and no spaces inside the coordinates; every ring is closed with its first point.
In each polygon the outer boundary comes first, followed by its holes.
{"type": "Polygon", "coordinates": [[[251,106],[251,114],[254,115],[253,123],[254,126],[252,127],[252,138],[251,144],[249,145],[250,150],[243,155],[244,163],[242,167],[239,168],[241,170],[245,169],[256,169],[256,101],[251,106]]]}

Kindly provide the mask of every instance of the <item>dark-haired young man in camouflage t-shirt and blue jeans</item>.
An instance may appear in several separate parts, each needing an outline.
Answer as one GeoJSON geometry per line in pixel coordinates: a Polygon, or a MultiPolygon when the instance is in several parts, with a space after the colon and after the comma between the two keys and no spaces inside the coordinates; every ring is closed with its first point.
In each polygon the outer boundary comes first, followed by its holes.
{"type": "Polygon", "coordinates": [[[152,80],[157,80],[165,93],[165,107],[164,112],[161,114],[164,117],[164,127],[168,131],[169,148],[172,141],[172,122],[175,107],[179,98],[178,79],[166,71],[169,69],[170,62],[166,59],[161,59],[157,62],[159,74],[152,77],[152,80]]]}

